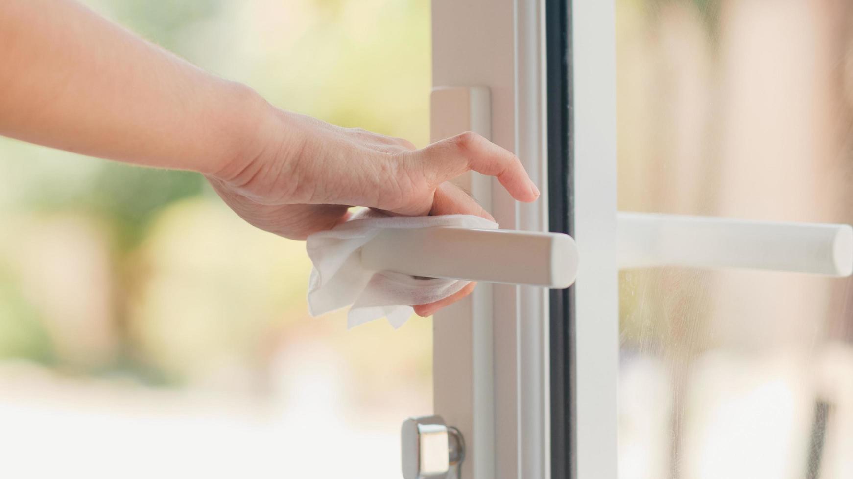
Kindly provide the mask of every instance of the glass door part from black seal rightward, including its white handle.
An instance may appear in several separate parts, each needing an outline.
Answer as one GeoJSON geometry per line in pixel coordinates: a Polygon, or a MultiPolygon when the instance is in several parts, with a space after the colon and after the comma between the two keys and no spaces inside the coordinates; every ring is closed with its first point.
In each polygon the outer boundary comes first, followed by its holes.
{"type": "Polygon", "coordinates": [[[548,3],[552,477],[850,476],[851,13],[548,3]]]}

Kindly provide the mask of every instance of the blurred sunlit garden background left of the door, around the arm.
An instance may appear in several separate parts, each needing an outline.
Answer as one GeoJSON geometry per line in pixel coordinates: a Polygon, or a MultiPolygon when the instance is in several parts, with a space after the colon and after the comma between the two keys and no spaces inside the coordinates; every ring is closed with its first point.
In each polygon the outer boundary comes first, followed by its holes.
{"type": "MultiPolygon", "coordinates": [[[[85,0],[272,103],[425,145],[426,0],[85,0]]],[[[397,477],[432,322],[310,318],[198,174],[0,138],[0,477],[397,477]]]]}

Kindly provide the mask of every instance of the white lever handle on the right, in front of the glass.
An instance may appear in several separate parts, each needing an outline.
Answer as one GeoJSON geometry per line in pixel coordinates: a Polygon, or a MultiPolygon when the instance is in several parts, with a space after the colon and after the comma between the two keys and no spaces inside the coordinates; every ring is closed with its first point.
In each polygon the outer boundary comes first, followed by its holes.
{"type": "Polygon", "coordinates": [[[620,269],[662,265],[814,273],[853,272],[850,225],[618,214],[620,269]]]}

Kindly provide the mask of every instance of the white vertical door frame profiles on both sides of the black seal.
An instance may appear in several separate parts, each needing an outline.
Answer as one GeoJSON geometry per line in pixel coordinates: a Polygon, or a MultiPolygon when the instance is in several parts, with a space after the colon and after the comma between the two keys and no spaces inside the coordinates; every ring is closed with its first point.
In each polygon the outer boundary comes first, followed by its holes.
{"type": "MultiPolygon", "coordinates": [[[[548,231],[546,0],[432,1],[432,83],[490,90],[490,139],[515,151],[543,191],[514,202],[473,174],[502,228],[548,231]]],[[[610,2],[572,2],[576,416],[580,478],[616,477],[615,24],[610,2]]],[[[433,111],[433,118],[440,116],[433,111]]],[[[434,318],[434,408],[467,442],[462,476],[551,476],[548,292],[481,285],[434,318]]],[[[562,478],[554,478],[562,479],[562,478]]]]}

